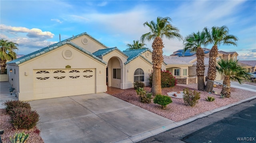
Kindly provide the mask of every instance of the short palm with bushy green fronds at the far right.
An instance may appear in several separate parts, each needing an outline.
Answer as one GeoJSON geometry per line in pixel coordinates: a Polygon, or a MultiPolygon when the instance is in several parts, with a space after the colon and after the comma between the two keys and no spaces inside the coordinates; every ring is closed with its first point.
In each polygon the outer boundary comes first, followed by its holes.
{"type": "Polygon", "coordinates": [[[250,79],[250,74],[248,74],[246,69],[238,64],[237,60],[221,59],[217,63],[217,71],[224,75],[223,86],[220,94],[229,98],[231,93],[230,80],[238,81],[241,84],[243,80],[250,79]]]}

